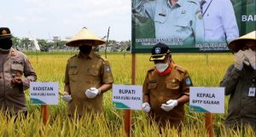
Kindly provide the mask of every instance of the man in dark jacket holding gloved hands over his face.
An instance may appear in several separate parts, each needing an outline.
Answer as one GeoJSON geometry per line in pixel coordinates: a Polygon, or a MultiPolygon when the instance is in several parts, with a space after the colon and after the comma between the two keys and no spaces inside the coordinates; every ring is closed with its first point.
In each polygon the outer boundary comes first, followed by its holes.
{"type": "Polygon", "coordinates": [[[229,48],[235,62],[220,83],[225,95],[230,95],[227,127],[251,125],[256,131],[256,31],[233,40],[229,48]]]}

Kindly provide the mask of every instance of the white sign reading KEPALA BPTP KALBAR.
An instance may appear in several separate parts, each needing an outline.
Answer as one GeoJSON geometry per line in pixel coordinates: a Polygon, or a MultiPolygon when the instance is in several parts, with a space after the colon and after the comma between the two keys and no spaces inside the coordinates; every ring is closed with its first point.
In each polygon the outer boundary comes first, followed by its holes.
{"type": "Polygon", "coordinates": [[[189,110],[224,113],[224,88],[190,87],[189,110]]]}

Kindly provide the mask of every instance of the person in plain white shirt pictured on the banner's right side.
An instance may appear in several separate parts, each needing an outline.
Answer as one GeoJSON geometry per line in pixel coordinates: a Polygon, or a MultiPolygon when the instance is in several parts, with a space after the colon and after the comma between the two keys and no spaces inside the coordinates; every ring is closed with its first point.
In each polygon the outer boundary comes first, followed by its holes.
{"type": "Polygon", "coordinates": [[[236,15],[230,0],[201,0],[205,42],[230,43],[239,37],[236,15]]]}

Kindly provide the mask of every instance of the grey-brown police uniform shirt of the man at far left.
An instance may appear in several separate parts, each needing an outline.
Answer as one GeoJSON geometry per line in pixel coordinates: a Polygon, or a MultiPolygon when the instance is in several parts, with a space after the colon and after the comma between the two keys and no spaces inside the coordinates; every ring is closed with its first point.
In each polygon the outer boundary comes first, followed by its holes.
{"type": "Polygon", "coordinates": [[[37,80],[37,75],[20,51],[10,49],[9,54],[0,54],[0,57],[3,58],[0,62],[0,109],[14,113],[26,111],[24,91],[30,82],[37,80]],[[13,77],[22,77],[22,86],[13,86],[13,77]]]}

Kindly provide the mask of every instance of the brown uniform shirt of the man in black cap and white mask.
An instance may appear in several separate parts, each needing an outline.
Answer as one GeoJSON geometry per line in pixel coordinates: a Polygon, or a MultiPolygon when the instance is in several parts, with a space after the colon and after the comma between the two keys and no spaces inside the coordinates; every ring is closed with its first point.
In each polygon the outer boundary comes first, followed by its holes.
{"type": "Polygon", "coordinates": [[[167,121],[171,125],[182,123],[183,104],[175,106],[172,111],[164,111],[160,106],[166,104],[167,100],[177,100],[183,94],[189,95],[191,85],[189,73],[181,66],[174,65],[172,71],[165,76],[160,76],[154,68],[150,69],[143,83],[143,102],[148,102],[151,107],[150,117],[160,124],[167,121]],[[149,100],[145,100],[145,97],[149,100]]]}

